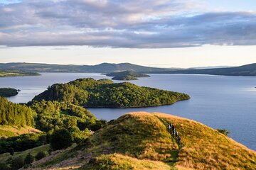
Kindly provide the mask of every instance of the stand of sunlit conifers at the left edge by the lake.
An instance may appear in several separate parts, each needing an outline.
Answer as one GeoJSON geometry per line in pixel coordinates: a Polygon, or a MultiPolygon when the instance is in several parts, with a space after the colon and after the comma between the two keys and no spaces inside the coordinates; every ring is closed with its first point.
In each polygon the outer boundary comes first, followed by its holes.
{"type": "Polygon", "coordinates": [[[31,108],[11,103],[6,98],[0,97],[0,125],[33,126],[35,115],[31,108]]]}

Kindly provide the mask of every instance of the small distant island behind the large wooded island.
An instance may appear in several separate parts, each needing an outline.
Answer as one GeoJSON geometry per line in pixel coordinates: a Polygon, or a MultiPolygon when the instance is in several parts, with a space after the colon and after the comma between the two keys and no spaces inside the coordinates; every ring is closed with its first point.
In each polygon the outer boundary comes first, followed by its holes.
{"type": "Polygon", "coordinates": [[[108,77],[113,77],[112,79],[114,80],[137,80],[137,77],[150,77],[147,74],[132,72],[130,70],[124,72],[112,72],[105,75],[108,77]]]}

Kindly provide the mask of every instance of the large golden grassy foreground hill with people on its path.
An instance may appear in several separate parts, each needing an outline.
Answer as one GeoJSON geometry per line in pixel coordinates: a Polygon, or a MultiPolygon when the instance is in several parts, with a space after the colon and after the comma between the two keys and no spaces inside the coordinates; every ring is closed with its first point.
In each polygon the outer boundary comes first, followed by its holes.
{"type": "Polygon", "coordinates": [[[77,147],[33,168],[256,169],[256,153],[201,123],[164,113],[129,113],[77,147]],[[173,123],[181,143],[166,130],[173,123]]]}

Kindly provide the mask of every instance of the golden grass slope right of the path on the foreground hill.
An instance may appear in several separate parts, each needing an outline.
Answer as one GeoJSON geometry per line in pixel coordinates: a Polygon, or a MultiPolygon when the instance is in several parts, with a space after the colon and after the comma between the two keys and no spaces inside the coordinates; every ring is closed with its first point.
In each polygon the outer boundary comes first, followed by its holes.
{"type": "Polygon", "coordinates": [[[177,165],[193,169],[256,169],[256,153],[201,123],[154,113],[173,123],[183,147],[177,165]]]}

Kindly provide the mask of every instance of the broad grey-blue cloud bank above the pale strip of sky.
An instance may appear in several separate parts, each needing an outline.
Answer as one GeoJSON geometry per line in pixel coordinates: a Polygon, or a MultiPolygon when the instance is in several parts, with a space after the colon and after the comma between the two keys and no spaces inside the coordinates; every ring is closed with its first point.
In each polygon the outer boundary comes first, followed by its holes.
{"type": "Polygon", "coordinates": [[[24,0],[0,4],[0,45],[163,48],[256,45],[256,13],[195,1],[24,0]]]}

